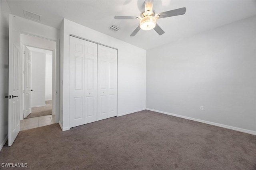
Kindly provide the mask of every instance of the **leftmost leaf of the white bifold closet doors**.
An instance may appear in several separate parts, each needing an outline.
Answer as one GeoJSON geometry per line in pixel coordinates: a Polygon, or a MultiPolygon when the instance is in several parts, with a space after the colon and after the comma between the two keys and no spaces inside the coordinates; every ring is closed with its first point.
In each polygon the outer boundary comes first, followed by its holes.
{"type": "Polygon", "coordinates": [[[84,124],[84,40],[70,36],[69,126],[84,124]]]}

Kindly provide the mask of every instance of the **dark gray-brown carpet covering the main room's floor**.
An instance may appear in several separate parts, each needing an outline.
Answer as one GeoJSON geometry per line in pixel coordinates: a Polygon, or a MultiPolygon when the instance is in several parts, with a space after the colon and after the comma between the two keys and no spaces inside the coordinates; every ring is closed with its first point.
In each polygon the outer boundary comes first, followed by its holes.
{"type": "Polygon", "coordinates": [[[64,132],[58,124],[20,131],[0,162],[31,170],[255,170],[256,136],[144,110],[64,132]]]}

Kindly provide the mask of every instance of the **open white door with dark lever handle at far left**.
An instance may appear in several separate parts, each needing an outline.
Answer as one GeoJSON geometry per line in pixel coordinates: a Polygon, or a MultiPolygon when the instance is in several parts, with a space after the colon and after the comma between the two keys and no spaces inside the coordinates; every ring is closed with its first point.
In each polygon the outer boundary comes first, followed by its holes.
{"type": "Polygon", "coordinates": [[[11,146],[20,132],[20,31],[15,17],[9,17],[9,102],[8,145],[11,146]]]}

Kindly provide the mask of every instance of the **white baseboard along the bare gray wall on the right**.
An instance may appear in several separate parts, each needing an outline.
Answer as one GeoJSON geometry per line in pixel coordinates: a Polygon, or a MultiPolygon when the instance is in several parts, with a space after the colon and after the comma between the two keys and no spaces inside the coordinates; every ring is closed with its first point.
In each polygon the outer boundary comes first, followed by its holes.
{"type": "Polygon", "coordinates": [[[231,129],[231,130],[234,130],[234,131],[239,131],[239,132],[249,133],[251,135],[256,135],[256,131],[251,131],[251,130],[248,130],[248,129],[242,129],[242,128],[239,128],[239,127],[233,127],[233,126],[223,125],[223,124],[220,124],[220,123],[214,123],[214,122],[211,122],[211,121],[205,121],[205,120],[195,119],[195,118],[192,118],[192,117],[176,115],[176,114],[173,114],[173,113],[168,113],[168,112],[165,112],[165,111],[160,111],[160,110],[155,110],[155,109],[149,109],[149,108],[146,108],[146,109],[150,110],[150,111],[155,111],[155,112],[163,113],[163,114],[166,114],[166,115],[181,117],[181,118],[184,118],[184,119],[198,121],[198,122],[206,123],[206,124],[209,124],[209,125],[214,125],[214,126],[218,126],[218,127],[224,127],[226,129],[231,129]]]}

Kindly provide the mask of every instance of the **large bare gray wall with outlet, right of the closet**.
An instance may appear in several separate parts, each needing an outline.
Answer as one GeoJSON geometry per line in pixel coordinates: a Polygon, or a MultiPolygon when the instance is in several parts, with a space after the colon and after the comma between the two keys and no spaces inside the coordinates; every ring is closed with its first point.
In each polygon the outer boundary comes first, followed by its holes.
{"type": "Polygon", "coordinates": [[[256,131],[256,16],[148,50],[146,107],[256,131]]]}

